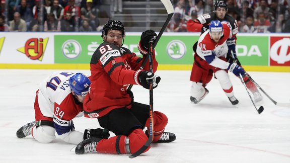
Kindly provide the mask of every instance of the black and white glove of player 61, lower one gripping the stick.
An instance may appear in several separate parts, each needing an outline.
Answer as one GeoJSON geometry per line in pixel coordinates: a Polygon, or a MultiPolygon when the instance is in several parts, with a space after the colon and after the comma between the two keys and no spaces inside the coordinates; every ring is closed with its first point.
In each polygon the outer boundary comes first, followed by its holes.
{"type": "Polygon", "coordinates": [[[143,88],[148,90],[150,89],[150,83],[152,83],[153,89],[155,89],[161,80],[161,77],[155,75],[152,72],[144,70],[136,71],[135,76],[137,76],[137,78],[135,78],[136,84],[141,85],[143,88]]]}

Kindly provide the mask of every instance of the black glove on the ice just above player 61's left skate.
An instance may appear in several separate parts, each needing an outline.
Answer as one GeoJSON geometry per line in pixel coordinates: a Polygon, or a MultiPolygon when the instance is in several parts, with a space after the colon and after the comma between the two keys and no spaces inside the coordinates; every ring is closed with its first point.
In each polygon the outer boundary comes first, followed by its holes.
{"type": "Polygon", "coordinates": [[[101,128],[85,129],[85,132],[84,132],[84,140],[91,138],[91,137],[98,137],[101,139],[107,139],[107,138],[109,138],[109,136],[110,136],[109,130],[101,129],[101,128]]]}

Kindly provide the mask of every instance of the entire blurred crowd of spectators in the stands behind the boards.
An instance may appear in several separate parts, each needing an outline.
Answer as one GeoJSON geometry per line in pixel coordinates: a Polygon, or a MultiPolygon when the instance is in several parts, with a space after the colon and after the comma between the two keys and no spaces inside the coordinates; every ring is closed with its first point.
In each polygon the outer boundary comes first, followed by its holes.
{"type": "MultiPolygon", "coordinates": [[[[100,31],[100,6],[111,0],[0,0],[0,31],[100,31]],[[8,3],[7,3],[8,2],[8,3]]],[[[133,1],[133,0],[131,0],[133,1]]],[[[146,0],[144,0],[146,1],[146,0]]],[[[167,32],[187,32],[189,19],[214,11],[215,0],[172,0],[174,16],[167,32]]],[[[242,33],[290,32],[290,0],[225,0],[242,33]]],[[[122,13],[122,1],[112,3],[122,13]]],[[[110,19],[110,18],[108,18],[110,19]]]]}

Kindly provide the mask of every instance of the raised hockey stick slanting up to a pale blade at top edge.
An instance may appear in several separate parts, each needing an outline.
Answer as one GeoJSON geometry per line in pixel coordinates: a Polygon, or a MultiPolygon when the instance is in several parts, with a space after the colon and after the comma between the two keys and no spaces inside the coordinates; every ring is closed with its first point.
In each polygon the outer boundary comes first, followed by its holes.
{"type": "MultiPolygon", "coordinates": [[[[158,33],[156,39],[154,40],[154,43],[153,43],[153,46],[152,46],[153,49],[156,47],[159,39],[161,38],[161,36],[162,36],[163,32],[165,31],[170,19],[172,18],[173,14],[174,14],[174,9],[173,9],[173,6],[172,6],[170,0],[160,0],[160,1],[163,3],[168,15],[167,15],[167,19],[166,19],[165,23],[163,24],[160,32],[158,33]]],[[[143,69],[143,67],[146,64],[148,58],[149,58],[149,55],[146,56],[146,58],[143,60],[143,62],[142,62],[142,64],[141,64],[139,69],[143,69]]],[[[132,89],[132,87],[133,87],[133,85],[129,85],[129,87],[127,89],[127,92],[130,91],[132,89]]]]}

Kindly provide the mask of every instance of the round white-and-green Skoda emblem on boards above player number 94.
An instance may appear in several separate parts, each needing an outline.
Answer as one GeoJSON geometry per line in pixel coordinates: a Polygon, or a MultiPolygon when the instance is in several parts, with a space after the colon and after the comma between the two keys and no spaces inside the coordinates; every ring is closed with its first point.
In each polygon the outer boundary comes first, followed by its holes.
{"type": "Polygon", "coordinates": [[[62,44],[62,54],[68,59],[77,58],[81,52],[82,47],[76,40],[67,40],[62,44]]]}

